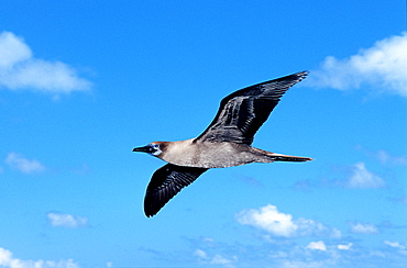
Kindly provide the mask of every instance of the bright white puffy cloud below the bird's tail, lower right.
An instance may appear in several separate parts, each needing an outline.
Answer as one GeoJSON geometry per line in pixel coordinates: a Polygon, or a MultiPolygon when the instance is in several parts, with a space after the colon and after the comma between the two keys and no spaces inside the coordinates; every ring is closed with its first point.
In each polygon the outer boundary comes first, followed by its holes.
{"type": "Polygon", "coordinates": [[[330,230],[314,220],[304,217],[293,220],[290,214],[278,212],[277,206],[272,204],[267,204],[258,210],[243,210],[237,214],[237,220],[240,224],[261,228],[273,236],[341,236],[340,231],[336,228],[330,230]]]}

